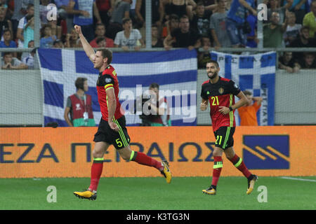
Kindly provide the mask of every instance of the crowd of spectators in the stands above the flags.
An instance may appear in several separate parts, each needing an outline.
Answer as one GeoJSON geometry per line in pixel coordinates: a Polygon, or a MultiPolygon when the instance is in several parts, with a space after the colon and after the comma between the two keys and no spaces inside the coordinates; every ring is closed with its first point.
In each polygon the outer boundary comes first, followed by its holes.
{"type": "MultiPolygon", "coordinates": [[[[264,48],[316,47],[316,0],[264,0],[264,48]]],[[[152,0],[152,48],[256,48],[256,0],[152,0]],[[246,12],[246,13],[244,13],[246,12]]],[[[93,48],[145,48],[145,0],[41,0],[40,47],[81,48],[74,25],[93,48]],[[57,17],[49,17],[57,6],[57,17]]],[[[0,0],[0,48],[34,48],[34,0],[0,0]]],[[[1,69],[34,66],[34,51],[2,54],[1,69]],[[21,65],[22,64],[22,65],[21,65]]],[[[279,69],[315,69],[315,53],[284,52],[279,69]]]]}

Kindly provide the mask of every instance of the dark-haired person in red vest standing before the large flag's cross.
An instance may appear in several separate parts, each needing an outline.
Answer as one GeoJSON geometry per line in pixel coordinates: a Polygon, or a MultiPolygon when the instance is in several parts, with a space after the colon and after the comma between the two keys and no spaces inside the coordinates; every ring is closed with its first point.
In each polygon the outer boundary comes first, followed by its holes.
{"type": "Polygon", "coordinates": [[[93,119],[92,98],[88,91],[87,78],[77,78],[74,85],[77,92],[67,98],[64,118],[70,127],[96,126],[93,119]]]}

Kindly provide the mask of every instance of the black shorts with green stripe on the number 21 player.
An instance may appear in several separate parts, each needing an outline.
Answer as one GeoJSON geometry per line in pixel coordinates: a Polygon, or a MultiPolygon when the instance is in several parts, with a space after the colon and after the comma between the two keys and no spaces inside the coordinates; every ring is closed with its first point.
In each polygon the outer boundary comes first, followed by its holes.
{"type": "Polygon", "coordinates": [[[215,135],[215,146],[222,148],[225,150],[226,148],[230,148],[234,145],[234,139],[232,135],[235,132],[235,127],[225,127],[222,126],[214,132],[215,135]]]}

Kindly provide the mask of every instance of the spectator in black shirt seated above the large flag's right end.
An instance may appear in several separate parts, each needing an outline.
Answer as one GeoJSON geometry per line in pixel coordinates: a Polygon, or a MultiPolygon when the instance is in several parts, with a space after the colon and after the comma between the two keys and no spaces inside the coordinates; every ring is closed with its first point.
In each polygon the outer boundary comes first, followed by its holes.
{"type": "Polygon", "coordinates": [[[193,48],[199,48],[200,45],[199,34],[190,29],[190,22],[187,15],[183,15],[183,17],[180,18],[179,28],[173,30],[173,32],[164,39],[164,48],[166,50],[172,47],[192,50],[193,48]]]}

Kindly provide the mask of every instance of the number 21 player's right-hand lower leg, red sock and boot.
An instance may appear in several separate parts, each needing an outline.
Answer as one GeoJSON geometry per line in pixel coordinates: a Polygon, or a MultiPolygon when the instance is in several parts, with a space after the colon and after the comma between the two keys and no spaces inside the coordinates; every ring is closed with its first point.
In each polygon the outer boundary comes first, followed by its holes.
{"type": "Polygon", "coordinates": [[[240,171],[246,179],[248,180],[248,188],[247,188],[247,195],[249,195],[252,190],[254,189],[254,183],[258,179],[258,176],[251,174],[249,170],[247,169],[246,165],[244,164],[244,161],[242,161],[242,158],[239,158],[239,156],[235,153],[234,148],[230,147],[225,150],[225,155],[230,162],[240,171]]]}

